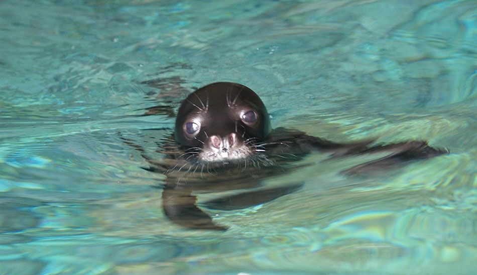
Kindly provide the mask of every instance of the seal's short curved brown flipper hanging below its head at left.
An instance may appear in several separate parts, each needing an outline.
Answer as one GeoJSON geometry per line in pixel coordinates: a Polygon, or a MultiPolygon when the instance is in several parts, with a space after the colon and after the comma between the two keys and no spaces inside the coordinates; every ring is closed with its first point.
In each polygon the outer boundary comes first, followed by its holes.
{"type": "Polygon", "coordinates": [[[164,213],[174,223],[194,229],[227,230],[227,227],[214,224],[212,218],[200,210],[191,195],[190,189],[165,187],[162,192],[164,213]]]}

